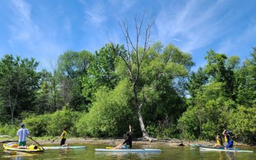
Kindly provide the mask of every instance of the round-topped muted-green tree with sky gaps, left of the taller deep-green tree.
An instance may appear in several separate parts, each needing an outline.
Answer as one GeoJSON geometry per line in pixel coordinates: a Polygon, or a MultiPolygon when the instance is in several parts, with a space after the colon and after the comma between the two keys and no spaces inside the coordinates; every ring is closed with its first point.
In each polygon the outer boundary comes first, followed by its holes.
{"type": "Polygon", "coordinates": [[[87,74],[93,55],[88,51],[67,51],[58,58],[59,89],[63,106],[71,109],[86,109],[86,100],[82,94],[81,78],[87,74]]]}

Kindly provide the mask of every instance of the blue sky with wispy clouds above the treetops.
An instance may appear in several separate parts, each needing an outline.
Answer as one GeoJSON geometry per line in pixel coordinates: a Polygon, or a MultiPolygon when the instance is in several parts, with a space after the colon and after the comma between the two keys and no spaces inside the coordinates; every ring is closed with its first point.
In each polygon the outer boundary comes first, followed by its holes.
{"type": "Polygon", "coordinates": [[[249,0],[1,0],[0,58],[33,57],[41,69],[68,50],[94,52],[109,39],[123,43],[118,20],[133,24],[145,8],[155,19],[153,42],[190,52],[195,68],[204,66],[209,49],[243,61],[256,46],[255,6],[249,0]]]}

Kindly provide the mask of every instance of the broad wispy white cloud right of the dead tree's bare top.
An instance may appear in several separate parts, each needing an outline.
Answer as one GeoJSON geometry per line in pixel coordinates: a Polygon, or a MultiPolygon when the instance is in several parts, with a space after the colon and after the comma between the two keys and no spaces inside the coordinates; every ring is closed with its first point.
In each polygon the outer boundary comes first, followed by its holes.
{"type": "Polygon", "coordinates": [[[177,6],[162,6],[156,17],[159,39],[164,43],[175,38],[182,39],[179,47],[188,52],[211,44],[223,29],[221,22],[228,19],[229,15],[215,19],[225,3],[207,3],[194,0],[185,5],[179,3],[177,6]]]}

